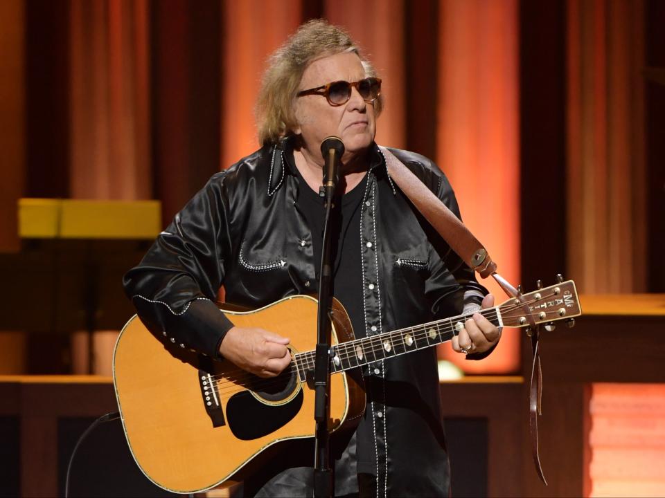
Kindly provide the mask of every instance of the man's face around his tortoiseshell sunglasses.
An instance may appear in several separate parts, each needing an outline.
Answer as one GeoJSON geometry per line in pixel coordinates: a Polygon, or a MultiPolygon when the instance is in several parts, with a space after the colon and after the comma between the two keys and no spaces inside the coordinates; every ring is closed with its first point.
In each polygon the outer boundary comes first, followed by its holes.
{"type": "MultiPolygon", "coordinates": [[[[310,64],[303,73],[299,90],[307,90],[330,82],[362,80],[365,70],[353,52],[322,57],[310,64]]],[[[323,162],[321,142],[329,136],[337,136],[344,142],[346,151],[343,162],[362,153],[369,147],[376,133],[374,104],[365,102],[355,87],[346,104],[332,106],[323,95],[303,95],[296,98],[296,120],[303,145],[310,156],[323,162]]]]}

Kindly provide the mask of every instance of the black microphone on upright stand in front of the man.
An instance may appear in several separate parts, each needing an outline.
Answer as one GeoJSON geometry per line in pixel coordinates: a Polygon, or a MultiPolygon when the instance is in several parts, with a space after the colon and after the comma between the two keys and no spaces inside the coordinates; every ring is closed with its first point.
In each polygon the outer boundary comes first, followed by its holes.
{"type": "Polygon", "coordinates": [[[326,219],[323,225],[323,250],[319,272],[319,308],[317,321],[317,349],[314,359],[314,421],[316,421],[316,449],[314,457],[314,497],[330,498],[334,495],[334,469],[330,465],[330,337],[331,324],[328,310],[332,302],[332,261],[330,260],[332,231],[332,197],[339,176],[339,158],[344,154],[344,144],[337,137],[329,137],[321,144],[323,187],[319,196],[325,199],[326,219]]]}

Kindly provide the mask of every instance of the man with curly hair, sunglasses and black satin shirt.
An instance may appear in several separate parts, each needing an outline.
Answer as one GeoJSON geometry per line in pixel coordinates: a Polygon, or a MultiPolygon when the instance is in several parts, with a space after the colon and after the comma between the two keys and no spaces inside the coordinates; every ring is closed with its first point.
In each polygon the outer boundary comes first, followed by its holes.
{"type": "MultiPolygon", "coordinates": [[[[222,285],[228,302],[249,308],[317,290],[320,146],[328,136],[346,147],[333,295],[356,337],[493,305],[391,181],[374,143],[380,85],[348,34],[325,21],[301,26],[276,51],[258,99],[263,147],[215,174],[125,276],[127,295],[154,333],[260,377],[289,365],[289,338],[233,326],[213,301],[222,285]]],[[[391,151],[459,216],[432,161],[391,151]]],[[[477,313],[452,347],[481,358],[499,335],[477,313]]],[[[332,441],[336,494],[448,495],[436,351],[373,362],[363,376],[364,416],[355,432],[332,441]]],[[[290,443],[283,458],[245,481],[245,494],[310,496],[312,459],[312,441],[290,443]]]]}

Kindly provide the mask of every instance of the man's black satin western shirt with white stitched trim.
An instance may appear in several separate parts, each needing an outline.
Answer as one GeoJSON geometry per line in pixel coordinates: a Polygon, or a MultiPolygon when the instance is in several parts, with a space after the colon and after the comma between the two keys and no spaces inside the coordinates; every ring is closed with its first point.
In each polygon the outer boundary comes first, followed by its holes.
{"type": "MultiPolygon", "coordinates": [[[[290,140],[266,145],[215,174],[125,275],[125,291],[155,335],[216,356],[232,326],[214,304],[220,286],[227,302],[249,308],[316,290],[319,261],[299,207],[301,189],[309,187],[286,160],[290,147],[290,140]]],[[[452,188],[431,160],[390,150],[459,216],[452,188]]],[[[459,314],[486,293],[391,181],[376,146],[362,194],[360,233],[349,237],[362,256],[357,279],[366,335],[459,314]]],[[[436,349],[375,362],[365,374],[376,495],[447,496],[450,468],[436,349]]],[[[338,495],[357,491],[355,474],[362,469],[354,439],[348,434],[333,441],[338,495]]],[[[310,447],[310,441],[294,442],[279,462],[283,468],[256,476],[246,483],[247,493],[310,496],[310,447]]]]}

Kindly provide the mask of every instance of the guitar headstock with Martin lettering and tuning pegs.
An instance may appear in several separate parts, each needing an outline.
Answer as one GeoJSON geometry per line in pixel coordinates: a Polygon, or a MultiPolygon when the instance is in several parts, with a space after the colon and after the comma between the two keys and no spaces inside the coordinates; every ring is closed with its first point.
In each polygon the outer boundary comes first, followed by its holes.
{"type": "MultiPolygon", "coordinates": [[[[529,308],[535,324],[569,320],[582,314],[575,282],[567,280],[524,294],[524,304],[511,298],[499,306],[504,326],[529,326],[524,306],[529,308]]],[[[574,322],[574,321],[572,321],[574,322]]],[[[571,322],[571,323],[572,323],[571,322]]]]}

